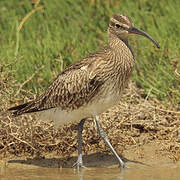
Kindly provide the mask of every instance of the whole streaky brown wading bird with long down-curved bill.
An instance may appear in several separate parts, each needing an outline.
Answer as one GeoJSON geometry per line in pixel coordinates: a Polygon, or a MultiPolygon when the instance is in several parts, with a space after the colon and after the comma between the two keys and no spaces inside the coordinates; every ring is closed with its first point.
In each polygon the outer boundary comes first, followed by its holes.
{"type": "Polygon", "coordinates": [[[135,58],[128,43],[131,34],[142,35],[160,48],[149,34],[134,27],[130,17],[114,14],[109,21],[108,43],[104,48],[67,66],[44,93],[34,100],[8,109],[13,116],[36,112],[42,120],[53,121],[55,127],[76,123],[78,157],[74,166],[77,169],[85,167],[82,158],[82,131],[89,117],[95,120],[100,137],[116,157],[120,168],[126,168],[103,131],[99,115],[118,104],[132,74],[135,58]]]}

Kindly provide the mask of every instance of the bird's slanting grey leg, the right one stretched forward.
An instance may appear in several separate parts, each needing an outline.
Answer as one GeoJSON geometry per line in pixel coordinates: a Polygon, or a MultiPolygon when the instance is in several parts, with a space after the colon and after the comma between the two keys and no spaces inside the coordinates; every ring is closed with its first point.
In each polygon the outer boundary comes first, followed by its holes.
{"type": "Polygon", "coordinates": [[[99,132],[99,135],[101,136],[101,138],[103,138],[104,142],[109,146],[109,148],[111,149],[112,153],[115,155],[115,157],[117,158],[117,160],[119,161],[119,165],[125,169],[126,166],[124,164],[124,162],[122,161],[122,159],[119,157],[119,155],[117,154],[117,152],[114,150],[114,148],[112,147],[111,143],[109,142],[105,132],[102,130],[100,122],[99,122],[99,117],[95,116],[95,121],[96,121],[96,125],[97,125],[97,129],[99,132]]]}

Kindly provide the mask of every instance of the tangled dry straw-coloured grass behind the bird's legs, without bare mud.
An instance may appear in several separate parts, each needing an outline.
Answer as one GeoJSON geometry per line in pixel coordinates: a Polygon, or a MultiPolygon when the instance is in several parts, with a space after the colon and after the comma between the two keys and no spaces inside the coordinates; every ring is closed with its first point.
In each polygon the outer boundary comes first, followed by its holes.
{"type": "MultiPolygon", "coordinates": [[[[35,115],[12,118],[5,110],[9,102],[18,101],[13,94],[13,84],[1,74],[0,98],[0,155],[43,156],[53,152],[62,157],[77,152],[77,126],[55,129],[53,124],[38,121],[35,115]]],[[[20,86],[21,87],[21,86],[20,86]]],[[[21,91],[23,86],[21,87],[21,91]]],[[[29,93],[27,92],[27,95],[29,93]]],[[[159,152],[168,154],[174,161],[180,159],[180,112],[166,110],[161,102],[149,100],[143,90],[130,82],[122,101],[100,117],[102,126],[118,153],[129,146],[140,146],[155,140],[161,142],[159,152]]],[[[88,119],[83,131],[83,151],[88,153],[108,150],[97,134],[95,123],[88,119]]]]}

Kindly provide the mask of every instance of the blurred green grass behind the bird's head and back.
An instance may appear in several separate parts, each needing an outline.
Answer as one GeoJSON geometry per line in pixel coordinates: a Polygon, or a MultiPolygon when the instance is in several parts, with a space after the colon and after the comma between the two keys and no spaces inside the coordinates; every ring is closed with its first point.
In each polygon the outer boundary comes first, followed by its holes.
{"type": "MultiPolygon", "coordinates": [[[[130,37],[136,67],[133,80],[150,96],[177,104],[180,101],[180,3],[179,0],[41,0],[43,9],[32,14],[20,32],[17,27],[34,9],[29,0],[0,1],[0,64],[17,63],[11,79],[22,83],[38,68],[26,90],[43,91],[63,67],[103,47],[107,43],[106,29],[112,14],[130,16],[135,27],[148,32],[161,49],[148,39],[130,37]],[[42,79],[41,81],[39,79],[42,79]]],[[[18,89],[18,87],[17,87],[18,89]]]]}

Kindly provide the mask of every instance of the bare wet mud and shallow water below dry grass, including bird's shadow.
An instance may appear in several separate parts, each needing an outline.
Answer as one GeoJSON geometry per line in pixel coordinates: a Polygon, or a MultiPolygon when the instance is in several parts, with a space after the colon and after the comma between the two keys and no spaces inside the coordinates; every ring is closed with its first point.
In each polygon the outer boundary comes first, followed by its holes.
{"type": "Polygon", "coordinates": [[[180,161],[173,163],[169,154],[158,153],[159,143],[134,147],[125,152],[129,169],[121,171],[111,154],[84,155],[88,168],[71,168],[77,156],[63,158],[9,157],[0,159],[0,180],[180,180],[180,161]],[[60,168],[66,167],[66,168],[60,168]]]}

